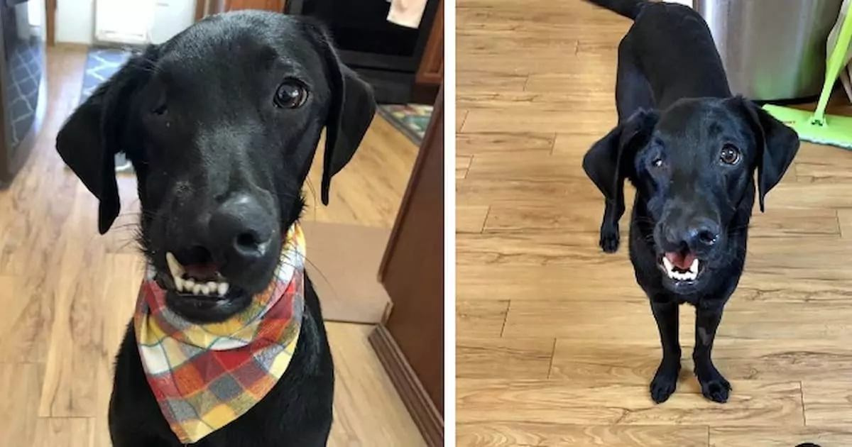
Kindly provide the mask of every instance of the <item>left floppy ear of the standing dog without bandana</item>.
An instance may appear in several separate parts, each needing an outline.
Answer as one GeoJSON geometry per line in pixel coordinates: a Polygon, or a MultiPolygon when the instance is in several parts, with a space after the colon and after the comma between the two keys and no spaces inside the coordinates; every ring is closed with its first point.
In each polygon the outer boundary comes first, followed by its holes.
{"type": "Polygon", "coordinates": [[[633,172],[633,158],[648,143],[658,118],[656,111],[638,110],[586,152],[583,170],[608,201],[624,202],[625,179],[633,172]]]}

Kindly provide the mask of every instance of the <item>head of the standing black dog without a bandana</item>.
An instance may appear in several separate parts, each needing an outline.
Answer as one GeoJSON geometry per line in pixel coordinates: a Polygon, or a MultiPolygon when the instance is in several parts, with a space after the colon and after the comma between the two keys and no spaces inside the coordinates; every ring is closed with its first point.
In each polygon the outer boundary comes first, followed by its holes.
{"type": "Polygon", "coordinates": [[[680,100],[663,112],[639,111],[586,153],[583,166],[607,200],[623,201],[625,178],[648,209],[664,283],[698,291],[743,247],[734,223],[749,215],[798,151],[796,132],[742,97],[680,100]]]}

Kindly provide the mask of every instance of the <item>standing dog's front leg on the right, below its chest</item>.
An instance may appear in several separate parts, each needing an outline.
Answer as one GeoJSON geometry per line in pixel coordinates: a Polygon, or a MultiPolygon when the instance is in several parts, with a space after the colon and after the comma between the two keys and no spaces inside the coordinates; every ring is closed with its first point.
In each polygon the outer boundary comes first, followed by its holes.
{"type": "Polygon", "coordinates": [[[722,376],[711,360],[716,330],[722,321],[722,307],[695,307],[695,349],[693,361],[695,375],[701,385],[701,393],[720,404],[728,401],[731,384],[722,376]]]}

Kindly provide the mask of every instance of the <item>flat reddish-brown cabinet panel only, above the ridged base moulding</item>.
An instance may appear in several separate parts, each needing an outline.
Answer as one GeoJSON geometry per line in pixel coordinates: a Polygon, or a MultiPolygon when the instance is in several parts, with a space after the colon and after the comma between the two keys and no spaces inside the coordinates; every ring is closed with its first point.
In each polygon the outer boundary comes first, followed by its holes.
{"type": "Polygon", "coordinates": [[[385,323],[444,414],[444,100],[435,101],[402,198],[379,280],[393,304],[385,323]]]}

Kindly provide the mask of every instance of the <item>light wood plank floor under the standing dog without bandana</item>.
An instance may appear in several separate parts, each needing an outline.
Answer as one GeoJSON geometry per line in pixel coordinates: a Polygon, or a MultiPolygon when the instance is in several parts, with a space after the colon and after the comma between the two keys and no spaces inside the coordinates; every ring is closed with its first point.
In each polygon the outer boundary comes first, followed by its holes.
{"type": "Polygon", "coordinates": [[[852,445],[852,152],[803,145],[755,215],[714,350],[728,404],[700,395],[682,307],[682,378],[655,405],[656,326],[626,249],[597,247],[580,166],[615,123],[629,20],[580,1],[457,14],[458,444],[852,445]]]}

